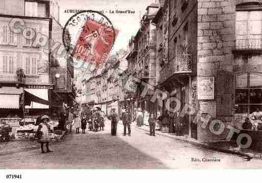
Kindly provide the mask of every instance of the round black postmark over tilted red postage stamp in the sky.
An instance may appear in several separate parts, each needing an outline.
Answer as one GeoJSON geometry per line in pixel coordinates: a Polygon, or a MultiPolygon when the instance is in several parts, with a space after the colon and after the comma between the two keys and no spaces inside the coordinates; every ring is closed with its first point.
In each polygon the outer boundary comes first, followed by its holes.
{"type": "Polygon", "coordinates": [[[62,38],[72,57],[99,65],[108,58],[117,34],[105,15],[85,10],[67,20],[62,38]]]}

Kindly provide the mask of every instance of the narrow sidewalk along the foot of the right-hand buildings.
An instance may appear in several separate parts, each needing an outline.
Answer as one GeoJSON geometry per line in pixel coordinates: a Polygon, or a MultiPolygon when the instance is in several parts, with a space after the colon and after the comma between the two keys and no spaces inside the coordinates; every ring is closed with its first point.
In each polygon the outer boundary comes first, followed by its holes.
{"type": "MultiPolygon", "coordinates": [[[[144,130],[146,132],[149,132],[149,126],[146,125],[141,127],[138,127],[136,125],[134,126],[139,130],[144,130]]],[[[158,130],[155,131],[155,134],[159,136],[169,137],[176,140],[186,141],[188,143],[201,146],[209,150],[245,156],[248,160],[252,158],[262,159],[262,151],[258,152],[251,149],[240,149],[240,147],[238,147],[237,144],[233,141],[204,143],[204,142],[199,142],[193,138],[188,138],[186,136],[176,136],[174,133],[162,133],[161,131],[158,130]]]]}

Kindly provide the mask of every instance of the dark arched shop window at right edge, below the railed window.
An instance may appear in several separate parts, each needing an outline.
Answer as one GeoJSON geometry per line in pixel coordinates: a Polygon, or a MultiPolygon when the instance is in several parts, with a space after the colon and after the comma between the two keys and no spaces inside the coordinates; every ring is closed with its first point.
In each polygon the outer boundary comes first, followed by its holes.
{"type": "Polygon", "coordinates": [[[262,73],[235,74],[235,114],[251,114],[262,107],[262,73]]]}

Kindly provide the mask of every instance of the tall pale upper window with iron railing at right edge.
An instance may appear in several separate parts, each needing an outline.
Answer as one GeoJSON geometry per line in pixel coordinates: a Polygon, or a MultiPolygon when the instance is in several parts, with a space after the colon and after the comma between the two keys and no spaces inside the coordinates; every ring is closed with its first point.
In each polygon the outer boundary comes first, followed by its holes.
{"type": "Polygon", "coordinates": [[[262,11],[236,12],[236,48],[261,49],[262,11]]]}

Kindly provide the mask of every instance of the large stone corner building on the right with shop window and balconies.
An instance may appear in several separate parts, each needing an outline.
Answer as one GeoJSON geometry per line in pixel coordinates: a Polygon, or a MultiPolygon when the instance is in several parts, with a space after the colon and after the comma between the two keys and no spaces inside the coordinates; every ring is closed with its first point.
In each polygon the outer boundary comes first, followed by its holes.
{"type": "MultiPolygon", "coordinates": [[[[229,129],[215,135],[199,119],[209,116],[242,129],[244,119],[262,107],[261,3],[166,0],[159,5],[153,20],[157,88],[179,99],[180,112],[187,104],[198,112],[183,116],[183,135],[226,140],[229,129]]],[[[158,103],[159,111],[167,110],[166,101],[158,103]]],[[[175,108],[176,102],[169,105],[175,108]]]]}

